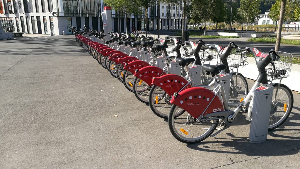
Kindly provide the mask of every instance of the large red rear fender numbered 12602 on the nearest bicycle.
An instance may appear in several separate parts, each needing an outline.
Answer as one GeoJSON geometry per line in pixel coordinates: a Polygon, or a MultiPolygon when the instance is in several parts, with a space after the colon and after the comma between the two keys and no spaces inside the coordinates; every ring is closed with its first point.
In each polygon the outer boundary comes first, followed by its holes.
{"type": "Polygon", "coordinates": [[[175,99],[173,96],[170,102],[183,108],[194,118],[198,118],[205,111],[210,102],[211,104],[203,116],[205,114],[224,110],[219,97],[214,96],[215,93],[209,89],[203,87],[191,87],[179,92],[175,99]]]}

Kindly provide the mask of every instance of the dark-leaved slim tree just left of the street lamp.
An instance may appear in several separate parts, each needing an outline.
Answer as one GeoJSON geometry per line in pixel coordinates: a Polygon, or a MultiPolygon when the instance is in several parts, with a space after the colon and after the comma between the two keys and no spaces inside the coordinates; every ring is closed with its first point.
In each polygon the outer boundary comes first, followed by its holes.
{"type": "Polygon", "coordinates": [[[218,22],[223,22],[225,20],[225,5],[222,0],[212,0],[211,1],[211,20],[216,22],[216,30],[218,29],[218,22]]]}

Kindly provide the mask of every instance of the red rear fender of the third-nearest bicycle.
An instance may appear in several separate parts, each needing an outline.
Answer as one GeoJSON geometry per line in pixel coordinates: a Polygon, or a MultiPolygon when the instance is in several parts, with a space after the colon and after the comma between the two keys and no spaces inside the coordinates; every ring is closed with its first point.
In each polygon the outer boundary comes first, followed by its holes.
{"type": "Polygon", "coordinates": [[[167,73],[159,67],[147,66],[139,70],[136,70],[134,76],[146,82],[149,86],[152,86],[152,78],[166,75],[167,73]]]}

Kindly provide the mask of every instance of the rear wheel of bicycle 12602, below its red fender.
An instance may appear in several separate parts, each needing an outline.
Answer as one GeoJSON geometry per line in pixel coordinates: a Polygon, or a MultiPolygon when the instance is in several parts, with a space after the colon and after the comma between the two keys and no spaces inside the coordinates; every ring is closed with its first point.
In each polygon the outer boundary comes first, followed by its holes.
{"type": "Polygon", "coordinates": [[[187,144],[198,143],[210,136],[217,127],[218,120],[203,121],[193,118],[187,112],[176,116],[178,111],[181,111],[181,108],[172,105],[168,118],[170,132],[178,141],[187,144]]]}

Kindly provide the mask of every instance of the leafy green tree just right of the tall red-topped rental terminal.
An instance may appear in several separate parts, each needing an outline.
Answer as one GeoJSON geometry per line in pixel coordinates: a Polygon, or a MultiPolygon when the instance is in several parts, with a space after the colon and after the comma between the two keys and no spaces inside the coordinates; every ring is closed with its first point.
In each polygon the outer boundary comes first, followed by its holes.
{"type": "Polygon", "coordinates": [[[125,14],[126,34],[127,34],[127,17],[132,15],[137,8],[133,0],[104,0],[108,6],[111,6],[116,11],[122,11],[125,14]]]}

